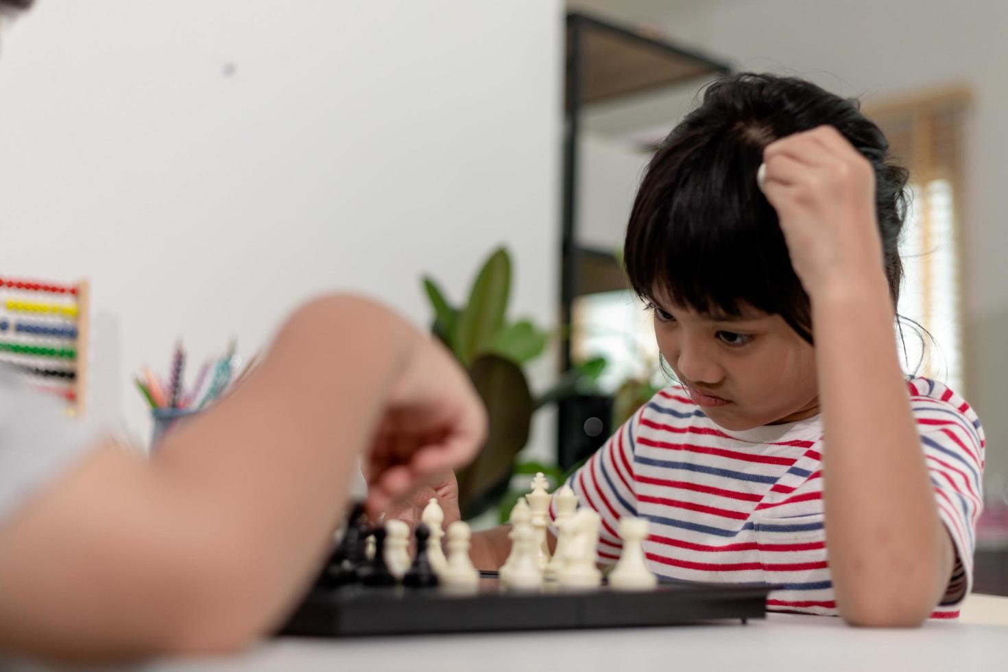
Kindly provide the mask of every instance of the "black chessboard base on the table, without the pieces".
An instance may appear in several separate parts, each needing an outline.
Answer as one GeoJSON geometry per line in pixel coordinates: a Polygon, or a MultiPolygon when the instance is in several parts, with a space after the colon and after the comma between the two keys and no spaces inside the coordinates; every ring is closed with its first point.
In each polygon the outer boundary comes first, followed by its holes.
{"type": "Polygon", "coordinates": [[[608,585],[509,592],[482,572],[475,592],[360,583],[317,586],[278,634],[363,637],[589,628],[631,628],[762,619],[772,586],[659,582],[646,590],[608,585]]]}

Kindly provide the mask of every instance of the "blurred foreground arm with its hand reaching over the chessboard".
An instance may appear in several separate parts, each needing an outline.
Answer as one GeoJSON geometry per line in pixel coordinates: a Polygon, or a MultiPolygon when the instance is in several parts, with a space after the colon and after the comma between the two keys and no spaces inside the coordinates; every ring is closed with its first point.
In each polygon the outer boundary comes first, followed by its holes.
{"type": "Polygon", "coordinates": [[[101,446],[0,528],[0,648],[86,659],[241,646],[306,587],[359,457],[376,510],[467,461],[485,424],[432,340],[366,300],[313,301],[153,458],[101,446]]]}

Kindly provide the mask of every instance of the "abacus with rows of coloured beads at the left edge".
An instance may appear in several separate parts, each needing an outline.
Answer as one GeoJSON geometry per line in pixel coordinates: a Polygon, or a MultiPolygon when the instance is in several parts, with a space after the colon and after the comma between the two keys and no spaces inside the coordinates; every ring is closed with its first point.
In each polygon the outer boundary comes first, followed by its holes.
{"type": "Polygon", "coordinates": [[[0,362],[84,413],[88,373],[88,282],[0,277],[0,362]]]}

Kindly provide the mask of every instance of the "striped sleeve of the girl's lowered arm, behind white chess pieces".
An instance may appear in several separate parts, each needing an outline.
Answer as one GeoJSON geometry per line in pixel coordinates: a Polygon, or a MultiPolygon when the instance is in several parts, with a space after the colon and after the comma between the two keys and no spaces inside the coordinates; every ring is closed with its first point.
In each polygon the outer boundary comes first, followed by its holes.
{"type": "MultiPolygon", "coordinates": [[[[594,509],[602,518],[597,560],[604,565],[615,563],[623,548],[620,518],[637,515],[633,456],[641,412],[623,423],[568,481],[578,495],[579,506],[594,509]]],[[[549,513],[555,517],[555,503],[549,513]]]]}

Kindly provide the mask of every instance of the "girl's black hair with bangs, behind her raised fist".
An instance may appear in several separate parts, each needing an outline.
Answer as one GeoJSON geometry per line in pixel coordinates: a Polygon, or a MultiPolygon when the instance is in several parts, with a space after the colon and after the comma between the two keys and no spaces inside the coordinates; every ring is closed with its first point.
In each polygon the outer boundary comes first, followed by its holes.
{"type": "Polygon", "coordinates": [[[708,314],[743,304],[780,314],[812,342],[808,295],[794,274],[777,214],[756,185],[763,148],[829,124],[875,168],[885,273],[895,309],[903,265],[899,234],[907,170],[859,103],[789,77],[743,73],[711,84],[703,103],[668,134],[648,164],[630,214],[624,261],[634,291],[663,290],[708,314]]]}

